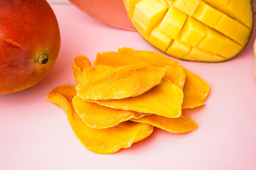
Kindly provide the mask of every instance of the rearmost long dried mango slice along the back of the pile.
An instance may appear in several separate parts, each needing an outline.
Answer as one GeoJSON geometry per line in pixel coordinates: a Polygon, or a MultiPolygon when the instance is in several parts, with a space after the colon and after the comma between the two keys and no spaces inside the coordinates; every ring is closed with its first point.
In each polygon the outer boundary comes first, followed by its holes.
{"type": "Polygon", "coordinates": [[[124,47],[118,52],[102,52],[97,54],[94,62],[95,65],[104,64],[114,67],[125,66],[129,64],[137,64],[145,62],[154,67],[165,67],[166,75],[164,78],[170,79],[173,84],[183,89],[186,74],[181,64],[175,60],[171,60],[159,52],[132,50],[132,48],[124,47]],[[168,66],[168,67],[166,67],[168,66]]]}

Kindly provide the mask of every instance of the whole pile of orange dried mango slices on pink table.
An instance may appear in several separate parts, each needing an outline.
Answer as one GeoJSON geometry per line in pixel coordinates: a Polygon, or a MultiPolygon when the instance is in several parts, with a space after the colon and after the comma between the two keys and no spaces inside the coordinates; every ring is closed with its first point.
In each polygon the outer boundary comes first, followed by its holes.
{"type": "Polygon", "coordinates": [[[202,106],[206,81],[157,52],[122,48],[73,60],[77,85],[55,87],[46,98],[63,108],[75,135],[92,152],[112,154],[151,135],[154,127],[174,133],[198,125],[181,114],[202,106]]]}

